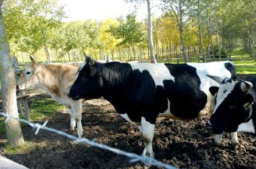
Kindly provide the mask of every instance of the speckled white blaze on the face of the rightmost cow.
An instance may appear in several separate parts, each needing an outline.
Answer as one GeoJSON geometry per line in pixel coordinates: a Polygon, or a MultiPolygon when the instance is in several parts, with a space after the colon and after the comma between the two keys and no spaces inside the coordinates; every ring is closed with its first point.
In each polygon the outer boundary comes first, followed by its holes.
{"type": "Polygon", "coordinates": [[[225,98],[231,93],[231,91],[234,89],[235,84],[235,81],[231,81],[230,83],[224,83],[219,86],[218,94],[216,97],[216,105],[213,113],[218,109],[219,105],[221,105],[225,98]]]}

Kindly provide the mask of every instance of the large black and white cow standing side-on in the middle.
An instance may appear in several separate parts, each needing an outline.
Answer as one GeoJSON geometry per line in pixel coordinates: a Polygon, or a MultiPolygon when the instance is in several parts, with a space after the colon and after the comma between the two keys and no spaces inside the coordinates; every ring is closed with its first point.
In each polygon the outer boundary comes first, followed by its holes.
{"type": "Polygon", "coordinates": [[[207,74],[236,78],[229,61],[187,64],[97,63],[90,57],[79,69],[69,97],[87,100],[103,96],[117,112],[138,126],[146,151],[153,155],[152,140],[158,117],[187,120],[212,112],[207,74]]]}

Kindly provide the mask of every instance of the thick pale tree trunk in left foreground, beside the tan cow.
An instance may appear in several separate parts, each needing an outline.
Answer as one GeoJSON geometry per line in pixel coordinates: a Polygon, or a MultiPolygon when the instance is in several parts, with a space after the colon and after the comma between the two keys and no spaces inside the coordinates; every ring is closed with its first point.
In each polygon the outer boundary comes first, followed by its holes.
{"type": "MultiPolygon", "coordinates": [[[[16,83],[11,63],[10,47],[7,40],[5,23],[3,22],[3,13],[0,9],[0,78],[3,111],[11,116],[18,118],[18,108],[16,100],[16,83]]],[[[19,121],[9,119],[5,123],[5,130],[8,143],[12,147],[23,145],[24,139],[19,121]]]]}

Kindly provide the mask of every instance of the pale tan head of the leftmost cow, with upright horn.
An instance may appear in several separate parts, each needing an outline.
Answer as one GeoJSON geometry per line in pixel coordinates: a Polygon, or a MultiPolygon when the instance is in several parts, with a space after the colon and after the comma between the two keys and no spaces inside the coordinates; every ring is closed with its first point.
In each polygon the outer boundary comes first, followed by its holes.
{"type": "Polygon", "coordinates": [[[35,62],[33,57],[30,56],[30,64],[21,74],[17,82],[19,90],[32,90],[39,88],[40,76],[41,75],[41,66],[35,62]]]}

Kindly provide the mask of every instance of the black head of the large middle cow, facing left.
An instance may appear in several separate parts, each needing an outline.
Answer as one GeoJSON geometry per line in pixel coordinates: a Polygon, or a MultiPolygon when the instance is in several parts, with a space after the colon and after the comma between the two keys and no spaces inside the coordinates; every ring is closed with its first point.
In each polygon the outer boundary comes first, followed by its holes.
{"type": "Polygon", "coordinates": [[[101,63],[90,57],[79,68],[77,79],[69,90],[68,96],[73,100],[93,99],[102,96],[101,63]]]}

